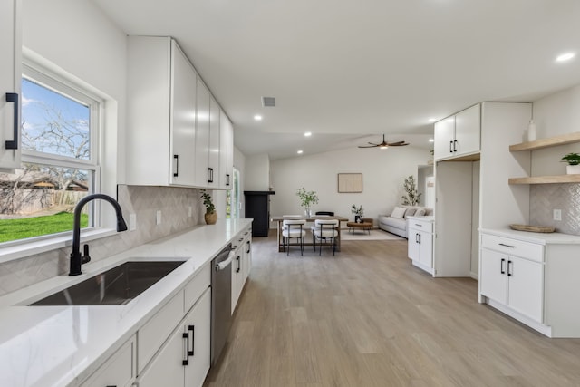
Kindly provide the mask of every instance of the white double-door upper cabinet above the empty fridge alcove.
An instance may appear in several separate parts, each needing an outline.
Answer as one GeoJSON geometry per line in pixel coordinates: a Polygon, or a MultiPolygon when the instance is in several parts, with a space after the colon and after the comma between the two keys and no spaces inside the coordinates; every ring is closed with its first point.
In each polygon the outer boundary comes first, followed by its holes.
{"type": "Polygon", "coordinates": [[[474,105],[435,123],[434,159],[452,159],[480,150],[481,108],[474,105]]]}

